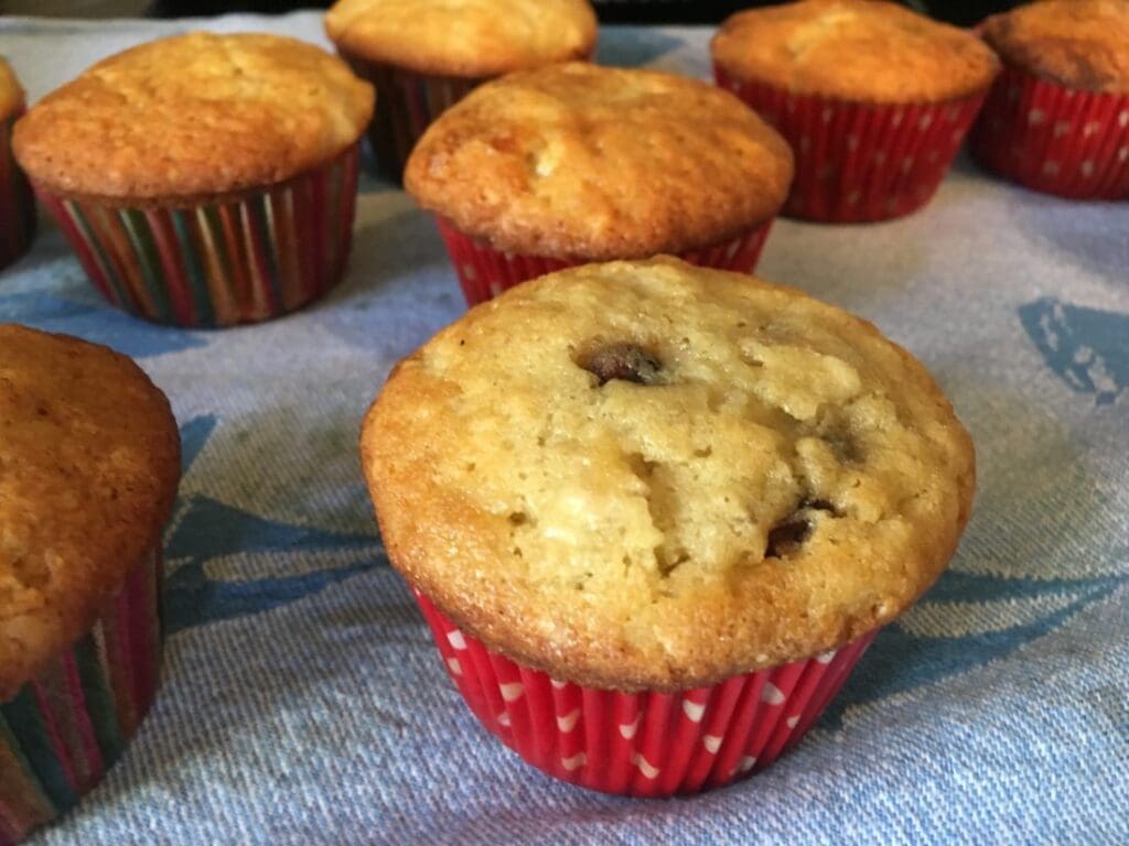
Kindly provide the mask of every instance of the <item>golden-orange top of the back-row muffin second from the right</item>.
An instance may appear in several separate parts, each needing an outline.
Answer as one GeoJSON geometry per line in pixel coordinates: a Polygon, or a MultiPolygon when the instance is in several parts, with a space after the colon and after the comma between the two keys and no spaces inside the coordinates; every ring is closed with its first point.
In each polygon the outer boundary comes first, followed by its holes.
{"type": "Polygon", "coordinates": [[[711,50],[738,80],[872,103],[970,96],[991,85],[999,65],[971,33],[874,0],[803,0],[738,12],[711,50]]]}

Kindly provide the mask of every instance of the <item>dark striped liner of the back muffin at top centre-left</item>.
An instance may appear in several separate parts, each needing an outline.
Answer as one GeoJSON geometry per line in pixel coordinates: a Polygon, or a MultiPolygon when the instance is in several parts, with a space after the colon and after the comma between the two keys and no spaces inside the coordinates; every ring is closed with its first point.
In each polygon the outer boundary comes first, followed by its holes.
{"type": "Polygon", "coordinates": [[[376,87],[368,141],[382,171],[403,178],[415,142],[431,122],[487,81],[480,77],[430,77],[342,53],[353,72],[376,87]]]}

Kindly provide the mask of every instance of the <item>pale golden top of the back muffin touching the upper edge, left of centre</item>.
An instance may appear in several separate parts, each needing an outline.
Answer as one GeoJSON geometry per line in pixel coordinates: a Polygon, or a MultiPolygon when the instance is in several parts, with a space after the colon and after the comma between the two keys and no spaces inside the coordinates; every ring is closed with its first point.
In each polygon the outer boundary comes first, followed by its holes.
{"type": "Polygon", "coordinates": [[[589,56],[596,15],[587,0],[338,0],[325,32],[370,61],[493,77],[589,56]]]}

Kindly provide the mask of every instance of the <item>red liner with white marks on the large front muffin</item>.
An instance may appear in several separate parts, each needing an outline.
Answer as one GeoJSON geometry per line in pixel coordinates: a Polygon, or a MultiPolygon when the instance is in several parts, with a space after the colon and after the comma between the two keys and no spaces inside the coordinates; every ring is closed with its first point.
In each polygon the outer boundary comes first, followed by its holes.
{"type": "Polygon", "coordinates": [[[877,634],[710,687],[623,694],[516,664],[414,592],[448,675],[490,732],[551,776],[625,796],[700,793],[769,766],[804,737],[877,634]]]}

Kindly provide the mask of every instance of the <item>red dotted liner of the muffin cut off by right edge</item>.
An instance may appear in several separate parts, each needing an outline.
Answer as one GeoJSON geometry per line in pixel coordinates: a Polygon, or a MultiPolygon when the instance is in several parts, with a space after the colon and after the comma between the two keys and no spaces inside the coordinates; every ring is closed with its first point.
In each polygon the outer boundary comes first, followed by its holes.
{"type": "Polygon", "coordinates": [[[1129,197],[1129,95],[1076,90],[1005,65],[971,148],[983,167],[1034,191],[1123,200],[1129,197]]]}

